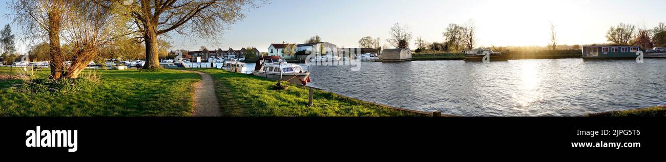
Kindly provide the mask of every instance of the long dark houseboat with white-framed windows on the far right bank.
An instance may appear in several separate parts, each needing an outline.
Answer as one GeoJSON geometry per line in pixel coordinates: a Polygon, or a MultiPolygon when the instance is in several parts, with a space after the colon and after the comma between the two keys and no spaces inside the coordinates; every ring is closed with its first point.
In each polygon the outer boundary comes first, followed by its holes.
{"type": "Polygon", "coordinates": [[[583,58],[635,58],[640,46],[585,45],[583,58]]]}

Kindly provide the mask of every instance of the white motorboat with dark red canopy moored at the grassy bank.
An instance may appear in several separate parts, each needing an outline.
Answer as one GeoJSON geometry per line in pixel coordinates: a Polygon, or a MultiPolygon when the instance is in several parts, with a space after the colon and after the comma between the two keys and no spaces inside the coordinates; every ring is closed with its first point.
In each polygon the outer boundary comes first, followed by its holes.
{"type": "Polygon", "coordinates": [[[263,59],[257,60],[252,74],[274,80],[281,79],[294,84],[306,85],[310,82],[310,72],[307,72],[298,64],[286,63],[279,56],[264,56],[263,59]]]}

